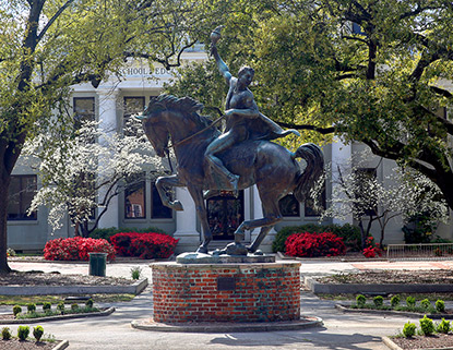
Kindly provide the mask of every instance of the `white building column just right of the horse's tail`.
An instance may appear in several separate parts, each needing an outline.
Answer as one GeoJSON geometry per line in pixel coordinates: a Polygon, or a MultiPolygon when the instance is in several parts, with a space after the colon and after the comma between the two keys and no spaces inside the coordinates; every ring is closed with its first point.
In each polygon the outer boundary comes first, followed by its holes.
{"type": "MultiPolygon", "coordinates": [[[[350,173],[351,161],[350,157],[353,155],[351,143],[347,145],[344,144],[339,138],[335,137],[332,143],[332,180],[338,179],[338,166],[342,169],[343,176],[348,176],[350,173]]],[[[334,186],[334,184],[332,185],[334,186]]],[[[332,189],[333,195],[333,189],[332,189]]],[[[345,219],[333,218],[333,224],[344,225],[353,224],[353,215],[348,215],[345,219]]]]}

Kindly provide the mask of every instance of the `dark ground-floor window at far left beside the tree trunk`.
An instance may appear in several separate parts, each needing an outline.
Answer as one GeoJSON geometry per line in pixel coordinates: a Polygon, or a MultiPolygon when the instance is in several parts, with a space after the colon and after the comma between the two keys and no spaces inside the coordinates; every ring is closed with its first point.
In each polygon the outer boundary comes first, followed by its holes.
{"type": "Polygon", "coordinates": [[[8,202],[8,220],[36,220],[37,213],[27,210],[37,190],[36,176],[12,176],[8,202]]]}

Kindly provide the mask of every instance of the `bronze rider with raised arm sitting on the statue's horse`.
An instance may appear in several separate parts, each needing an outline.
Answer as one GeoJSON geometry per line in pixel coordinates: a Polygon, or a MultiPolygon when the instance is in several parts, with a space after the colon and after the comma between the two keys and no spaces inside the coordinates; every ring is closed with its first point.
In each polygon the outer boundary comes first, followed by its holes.
{"type": "Polygon", "coordinates": [[[225,106],[226,130],[207,146],[204,155],[213,172],[220,176],[225,180],[223,182],[229,183],[230,189],[237,192],[239,177],[225,167],[222,159],[216,156],[217,154],[246,140],[274,140],[289,133],[299,136],[299,133],[296,130],[284,131],[271,119],[260,113],[253,94],[249,89],[254,70],[243,67],[239,70],[238,77],[231,75],[217,52],[216,44],[220,38],[220,28],[215,28],[211,34],[211,55],[229,86],[225,106]]]}

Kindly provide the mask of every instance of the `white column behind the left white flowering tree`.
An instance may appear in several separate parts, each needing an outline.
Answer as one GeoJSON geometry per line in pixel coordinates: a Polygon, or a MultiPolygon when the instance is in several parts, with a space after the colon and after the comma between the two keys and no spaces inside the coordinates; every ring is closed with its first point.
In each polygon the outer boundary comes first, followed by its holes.
{"type": "MultiPolygon", "coordinates": [[[[114,88],[109,89],[97,89],[98,105],[99,105],[99,128],[106,132],[115,133],[118,130],[117,122],[117,97],[118,90],[114,88]]],[[[103,140],[99,140],[103,143],[103,140]]],[[[102,167],[103,165],[99,164],[102,167]]],[[[105,194],[104,189],[99,190],[99,198],[105,194]]],[[[100,208],[102,209],[102,208],[100,208]]],[[[100,210],[99,209],[99,210],[100,210]]],[[[118,196],[115,196],[109,205],[107,212],[103,215],[99,220],[99,228],[109,228],[119,226],[119,207],[118,196]]]]}

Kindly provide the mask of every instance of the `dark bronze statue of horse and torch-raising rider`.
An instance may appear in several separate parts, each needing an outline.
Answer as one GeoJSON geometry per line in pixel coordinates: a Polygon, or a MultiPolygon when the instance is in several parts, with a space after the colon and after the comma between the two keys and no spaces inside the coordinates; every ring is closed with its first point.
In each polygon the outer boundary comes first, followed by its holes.
{"type": "Polygon", "coordinates": [[[271,142],[290,133],[299,133],[283,130],[259,111],[249,89],[253,69],[245,67],[239,70],[238,77],[231,75],[217,52],[220,27],[211,34],[211,55],[229,86],[224,114],[225,132],[220,133],[211,119],[201,116],[199,111],[203,105],[190,97],[151,97],[150,105],[138,118],[142,120],[146,136],[158,156],[166,155],[171,142],[178,165],[177,173],[159,177],[156,188],[163,204],[175,210],[182,210],[182,205],[179,201],[170,201],[165,189],[186,186],[189,190],[203,230],[203,241],[198,252],[208,253],[212,240],[204,200],[219,191],[237,193],[238,190],[257,184],[263,218],[240,224],[235,231],[235,242],[215,252],[247,255],[255,253],[267,232],[282,220],[278,201],[293,193],[299,202],[303,202],[323,172],[324,161],[320,147],[312,143],[303,144],[293,153],[271,142]],[[303,171],[297,158],[306,160],[303,171]],[[261,228],[255,240],[248,246],[243,245],[246,230],[255,228],[261,228]]]}

